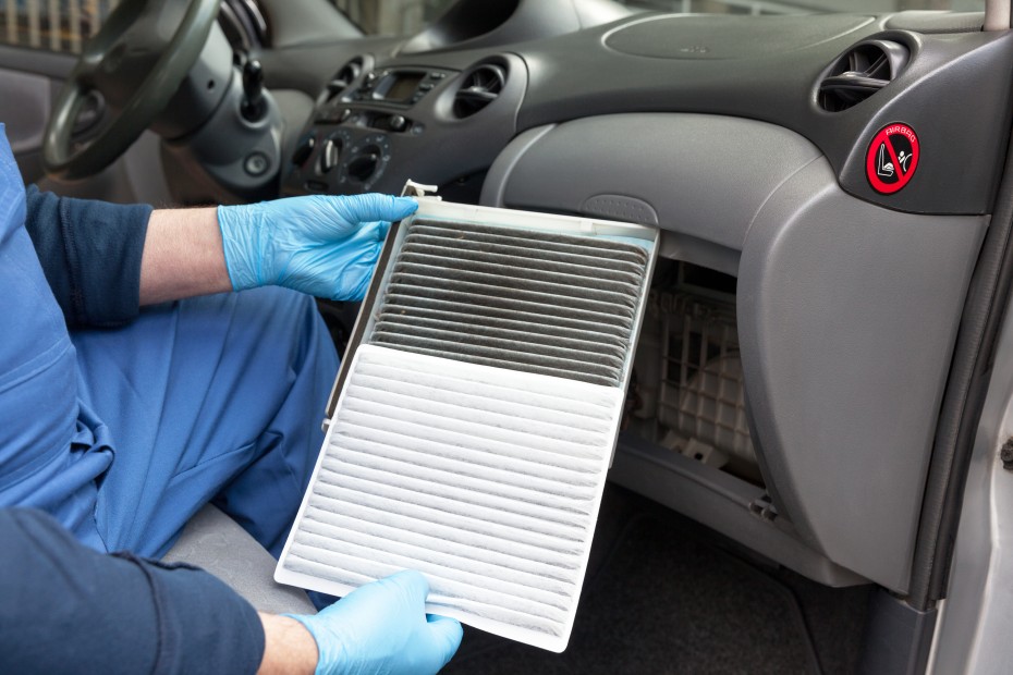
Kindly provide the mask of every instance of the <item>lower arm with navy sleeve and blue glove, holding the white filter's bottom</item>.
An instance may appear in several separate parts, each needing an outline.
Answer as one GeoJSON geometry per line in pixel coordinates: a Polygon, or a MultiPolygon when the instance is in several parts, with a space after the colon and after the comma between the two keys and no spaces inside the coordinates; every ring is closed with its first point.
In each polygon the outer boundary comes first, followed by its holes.
{"type": "Polygon", "coordinates": [[[277,616],[202,569],[93,551],[41,511],[0,508],[0,673],[426,675],[461,642],[416,572],[277,616]]]}

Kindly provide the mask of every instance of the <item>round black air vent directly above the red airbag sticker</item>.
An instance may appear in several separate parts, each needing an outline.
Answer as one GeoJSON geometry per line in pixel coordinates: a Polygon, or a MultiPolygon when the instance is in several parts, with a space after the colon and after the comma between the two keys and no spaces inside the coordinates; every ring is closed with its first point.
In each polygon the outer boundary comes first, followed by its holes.
{"type": "Polygon", "coordinates": [[[840,112],[872,96],[907,65],[907,48],[891,40],[858,42],[839,58],[819,83],[819,105],[840,112]]]}

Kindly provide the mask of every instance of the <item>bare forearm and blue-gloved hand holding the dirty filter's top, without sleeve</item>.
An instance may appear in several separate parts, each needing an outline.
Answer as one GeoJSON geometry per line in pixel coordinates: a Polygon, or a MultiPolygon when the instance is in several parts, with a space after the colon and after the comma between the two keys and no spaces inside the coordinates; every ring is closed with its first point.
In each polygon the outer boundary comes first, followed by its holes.
{"type": "Polygon", "coordinates": [[[155,211],[144,243],[141,304],[267,285],[361,299],[389,222],[417,206],[388,195],[314,195],[155,211]]]}

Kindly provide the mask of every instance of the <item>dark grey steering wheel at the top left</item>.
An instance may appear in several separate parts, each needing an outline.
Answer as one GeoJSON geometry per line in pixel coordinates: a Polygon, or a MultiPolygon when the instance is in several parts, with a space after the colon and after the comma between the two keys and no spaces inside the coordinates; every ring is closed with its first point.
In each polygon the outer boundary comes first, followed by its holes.
{"type": "Polygon", "coordinates": [[[122,0],[87,42],[57,97],[42,139],[46,172],[83,179],[122,155],[197,62],[219,2],[122,0]],[[110,114],[85,140],[75,140],[78,114],[98,101],[105,101],[110,114]]]}

